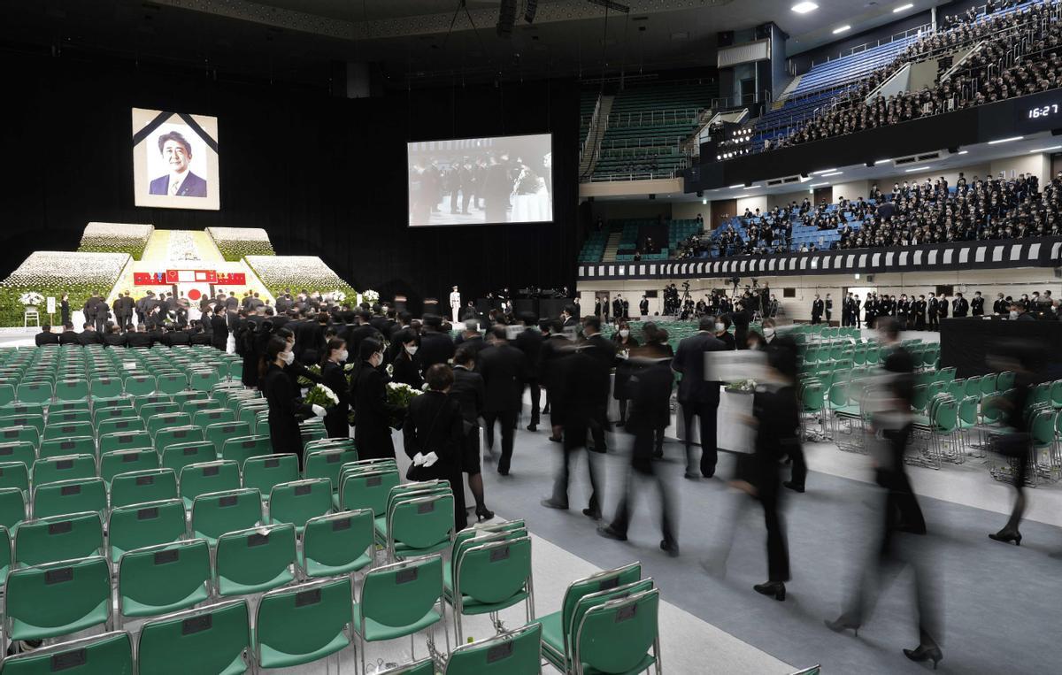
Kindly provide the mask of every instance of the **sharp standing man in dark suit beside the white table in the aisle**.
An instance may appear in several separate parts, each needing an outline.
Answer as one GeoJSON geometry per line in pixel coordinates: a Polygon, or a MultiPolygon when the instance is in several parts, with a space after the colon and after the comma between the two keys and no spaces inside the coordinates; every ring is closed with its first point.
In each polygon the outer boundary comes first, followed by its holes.
{"type": "Polygon", "coordinates": [[[717,328],[715,319],[704,316],[700,321],[700,330],[695,335],[683,339],[679,350],[671,362],[671,368],[682,374],[679,384],[679,403],[682,405],[683,425],[686,442],[686,478],[697,479],[693,467],[693,439],[690,437],[693,417],[701,425],[701,463],[700,474],[712,478],[716,473],[716,414],[719,410],[719,382],[708,382],[704,379],[704,354],[709,351],[723,351],[725,345],[712,334],[717,328]]]}

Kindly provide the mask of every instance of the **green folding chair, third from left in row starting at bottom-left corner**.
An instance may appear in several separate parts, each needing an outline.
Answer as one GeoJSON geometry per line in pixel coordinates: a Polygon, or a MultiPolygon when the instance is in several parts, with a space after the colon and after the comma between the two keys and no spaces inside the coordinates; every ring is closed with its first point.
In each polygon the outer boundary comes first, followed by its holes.
{"type": "MultiPolygon", "coordinates": [[[[259,668],[292,668],[342,652],[350,644],[350,596],[349,576],[262,595],[255,615],[255,662],[259,668]]],[[[338,656],[336,665],[338,671],[338,656]]]]}

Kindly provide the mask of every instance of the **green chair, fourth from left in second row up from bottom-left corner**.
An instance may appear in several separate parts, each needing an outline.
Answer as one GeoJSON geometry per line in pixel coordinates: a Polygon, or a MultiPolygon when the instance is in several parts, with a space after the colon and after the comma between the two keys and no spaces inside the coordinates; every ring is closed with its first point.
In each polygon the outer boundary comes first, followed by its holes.
{"type": "Polygon", "coordinates": [[[306,521],[303,571],[306,576],[339,576],[373,564],[373,512],[346,510],[306,521]]]}

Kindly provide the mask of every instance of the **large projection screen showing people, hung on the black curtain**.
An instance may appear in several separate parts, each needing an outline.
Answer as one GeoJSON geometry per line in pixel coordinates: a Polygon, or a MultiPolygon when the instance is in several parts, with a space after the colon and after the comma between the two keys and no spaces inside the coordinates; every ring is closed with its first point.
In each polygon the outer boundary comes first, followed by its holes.
{"type": "Polygon", "coordinates": [[[409,143],[409,224],[553,220],[552,136],[409,143]]]}

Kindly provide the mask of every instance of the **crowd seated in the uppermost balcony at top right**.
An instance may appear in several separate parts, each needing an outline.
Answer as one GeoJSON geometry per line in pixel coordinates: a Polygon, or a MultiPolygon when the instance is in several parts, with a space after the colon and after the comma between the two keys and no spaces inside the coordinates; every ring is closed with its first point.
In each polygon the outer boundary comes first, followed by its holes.
{"type": "MultiPolygon", "coordinates": [[[[1000,4],[1014,3],[995,3],[1000,4]]],[[[1062,23],[1051,18],[1055,6],[1056,0],[1050,0],[991,18],[974,19],[971,10],[959,19],[948,19],[944,28],[919,39],[888,66],[840,94],[825,112],[804,121],[787,136],[767,141],[765,150],[1055,89],[1062,85],[1062,23]],[[871,92],[907,63],[945,55],[980,41],[983,46],[970,55],[961,70],[938,79],[932,87],[879,96],[867,103],[871,92]]]]}

